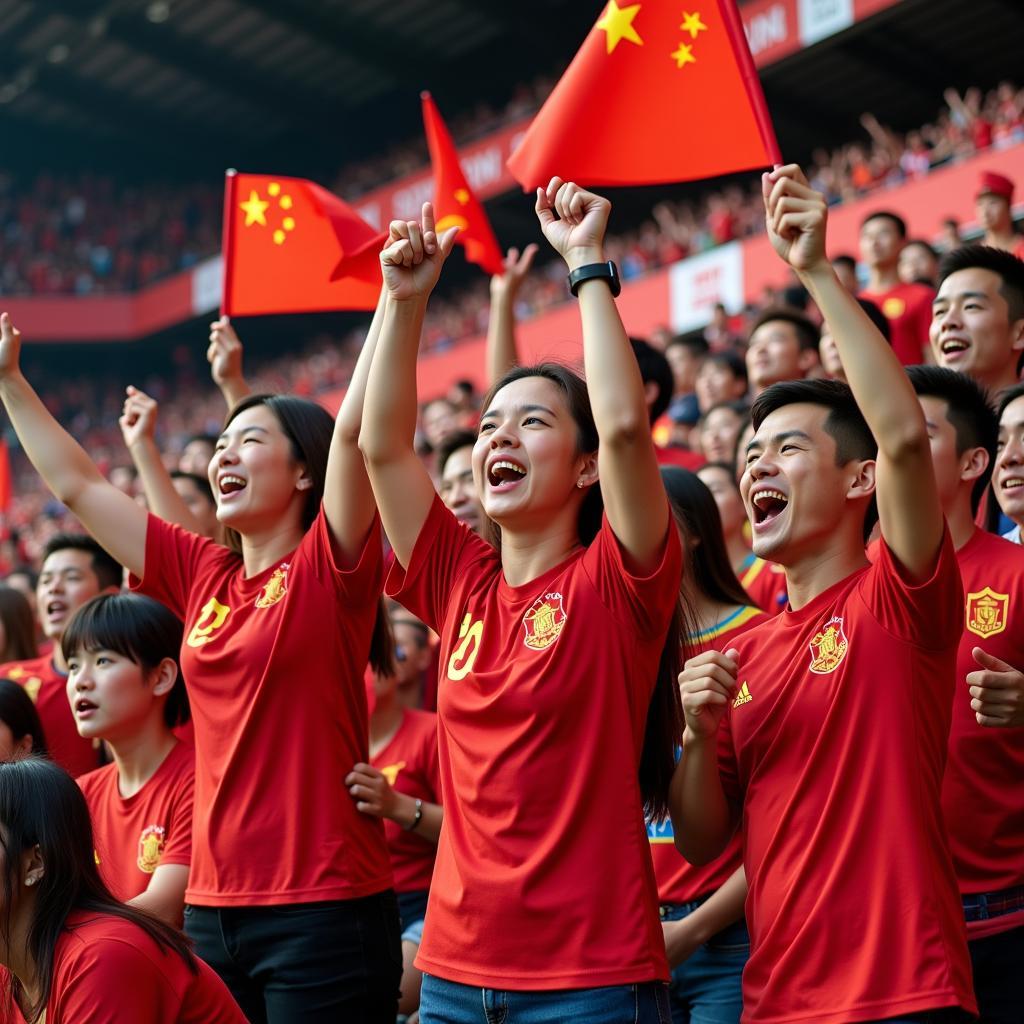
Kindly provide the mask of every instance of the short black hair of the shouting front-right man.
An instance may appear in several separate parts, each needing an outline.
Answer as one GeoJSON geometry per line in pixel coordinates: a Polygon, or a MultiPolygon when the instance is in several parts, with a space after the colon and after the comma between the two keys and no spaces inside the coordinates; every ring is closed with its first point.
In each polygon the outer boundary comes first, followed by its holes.
{"type": "MultiPolygon", "coordinates": [[[[754,424],[754,429],[760,430],[761,424],[776,410],[802,402],[828,410],[823,428],[836,441],[837,466],[845,466],[855,459],[878,458],[879,446],[871,428],[868,427],[863,413],[857,406],[853,391],[842,381],[802,380],[771,384],[754,399],[754,404],[751,407],[751,422],[754,424]]],[[[878,518],[878,502],[874,495],[871,495],[864,514],[865,542],[870,537],[878,518]]]]}

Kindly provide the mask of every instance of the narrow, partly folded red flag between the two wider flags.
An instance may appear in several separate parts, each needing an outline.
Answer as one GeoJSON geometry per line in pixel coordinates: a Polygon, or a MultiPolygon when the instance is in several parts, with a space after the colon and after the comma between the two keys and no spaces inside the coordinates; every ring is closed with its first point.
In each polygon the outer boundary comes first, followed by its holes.
{"type": "Polygon", "coordinates": [[[458,224],[456,242],[466,248],[466,259],[479,264],[487,273],[505,269],[502,251],[479,200],[470,190],[459,164],[459,154],[429,92],[423,100],[423,127],[427,148],[434,168],[434,215],[438,233],[458,224]]]}

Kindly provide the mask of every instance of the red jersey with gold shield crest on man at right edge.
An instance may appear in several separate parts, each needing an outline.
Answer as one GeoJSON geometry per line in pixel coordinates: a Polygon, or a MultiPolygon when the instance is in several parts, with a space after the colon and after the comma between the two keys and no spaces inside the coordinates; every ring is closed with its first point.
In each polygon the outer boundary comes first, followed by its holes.
{"type": "MultiPolygon", "coordinates": [[[[1024,886],[1024,728],[979,725],[967,675],[980,670],[980,647],[1024,669],[1024,548],[976,530],[956,553],[965,591],[965,626],[956,655],[956,690],[942,809],[961,892],[1024,886]]],[[[970,938],[1024,924],[1024,912],[971,922],[970,938]]]]}

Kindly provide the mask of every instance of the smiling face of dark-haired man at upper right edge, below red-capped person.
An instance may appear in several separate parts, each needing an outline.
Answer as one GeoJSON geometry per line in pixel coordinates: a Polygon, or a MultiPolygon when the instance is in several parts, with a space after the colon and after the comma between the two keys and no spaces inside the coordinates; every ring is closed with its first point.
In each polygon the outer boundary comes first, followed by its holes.
{"type": "Polygon", "coordinates": [[[1024,322],[1010,319],[993,270],[967,267],[949,274],[932,304],[929,338],[940,367],[959,371],[986,387],[1004,387],[1017,377],[1024,347],[1024,322]]]}

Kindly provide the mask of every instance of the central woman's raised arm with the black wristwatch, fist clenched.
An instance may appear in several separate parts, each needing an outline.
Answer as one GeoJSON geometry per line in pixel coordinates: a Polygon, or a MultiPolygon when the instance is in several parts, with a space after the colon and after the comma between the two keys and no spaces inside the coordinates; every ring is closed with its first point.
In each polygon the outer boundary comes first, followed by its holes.
{"type": "MultiPolygon", "coordinates": [[[[605,262],[604,232],[611,204],[572,182],[552,178],[537,189],[544,237],[569,271],[605,262]]],[[[607,281],[579,289],[583,357],[590,404],[600,441],[601,497],[608,522],[630,563],[654,567],[669,528],[669,503],[654,455],[640,368],[607,281]]]]}

